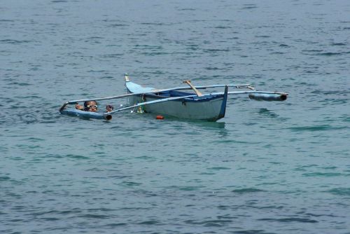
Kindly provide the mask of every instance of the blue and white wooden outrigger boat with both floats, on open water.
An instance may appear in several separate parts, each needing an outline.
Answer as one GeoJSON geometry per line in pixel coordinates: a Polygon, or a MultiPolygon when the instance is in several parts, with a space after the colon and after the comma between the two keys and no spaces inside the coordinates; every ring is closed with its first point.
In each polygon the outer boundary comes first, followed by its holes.
{"type": "Polygon", "coordinates": [[[228,95],[247,95],[250,99],[260,101],[284,101],[287,99],[286,92],[268,92],[255,90],[251,85],[206,85],[193,86],[190,81],[183,81],[188,86],[157,89],[138,85],[130,81],[129,76],[125,74],[125,86],[127,94],[112,97],[78,99],[65,102],[59,112],[69,116],[80,116],[83,118],[106,119],[110,121],[112,114],[125,110],[137,110],[146,113],[157,113],[176,118],[217,121],[225,116],[228,95]],[[207,88],[225,88],[224,92],[211,92],[203,94],[199,90],[207,88]],[[228,88],[246,89],[243,91],[228,92],[228,88]],[[184,92],[183,90],[193,90],[184,92]],[[106,99],[127,98],[127,106],[110,112],[90,112],[78,109],[67,109],[69,104],[76,104],[86,101],[102,101],[106,99]]]}

